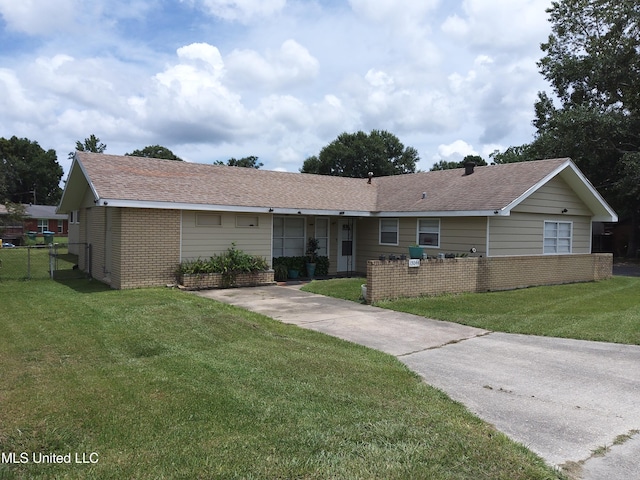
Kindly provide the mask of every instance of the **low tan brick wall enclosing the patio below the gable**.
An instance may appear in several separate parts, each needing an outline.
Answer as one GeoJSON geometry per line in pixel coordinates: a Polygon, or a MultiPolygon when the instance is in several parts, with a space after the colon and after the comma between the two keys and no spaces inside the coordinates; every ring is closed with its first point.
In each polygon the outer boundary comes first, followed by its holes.
{"type": "Polygon", "coordinates": [[[611,277],[608,253],[517,257],[445,258],[367,262],[367,302],[443,293],[487,292],[611,277]]]}

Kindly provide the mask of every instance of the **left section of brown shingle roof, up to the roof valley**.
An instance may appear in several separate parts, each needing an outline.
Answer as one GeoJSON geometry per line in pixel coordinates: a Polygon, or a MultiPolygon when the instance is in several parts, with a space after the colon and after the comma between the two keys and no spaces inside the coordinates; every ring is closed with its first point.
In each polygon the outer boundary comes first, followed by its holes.
{"type": "Polygon", "coordinates": [[[366,180],[78,152],[100,198],[196,205],[369,211],[366,180]]]}

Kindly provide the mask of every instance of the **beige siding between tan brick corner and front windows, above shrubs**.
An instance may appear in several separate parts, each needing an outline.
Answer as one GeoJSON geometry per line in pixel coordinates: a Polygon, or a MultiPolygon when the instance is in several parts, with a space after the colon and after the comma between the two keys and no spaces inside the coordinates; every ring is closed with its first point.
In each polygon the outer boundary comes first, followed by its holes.
{"type": "MultiPolygon", "coordinates": [[[[271,263],[272,215],[236,214],[231,212],[207,212],[220,215],[221,225],[197,226],[198,212],[182,212],[182,260],[209,258],[226,251],[235,243],[236,248],[251,255],[259,255],[271,263]],[[237,218],[242,217],[242,218],[237,218]],[[249,219],[251,222],[245,220],[249,219]],[[258,225],[244,226],[258,219],[258,225]]],[[[203,222],[207,223],[207,222],[203,222]]]]}

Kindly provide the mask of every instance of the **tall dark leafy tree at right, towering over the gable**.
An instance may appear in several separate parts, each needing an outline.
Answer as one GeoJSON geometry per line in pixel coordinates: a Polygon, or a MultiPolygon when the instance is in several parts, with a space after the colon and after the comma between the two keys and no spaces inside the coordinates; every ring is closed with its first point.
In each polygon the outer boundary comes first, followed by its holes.
{"type": "Polygon", "coordinates": [[[496,162],[571,157],[618,211],[631,219],[628,253],[640,247],[640,3],[559,0],[538,66],[554,95],[538,94],[529,145],[496,162]],[[554,98],[555,97],[555,98],[554,98]]]}

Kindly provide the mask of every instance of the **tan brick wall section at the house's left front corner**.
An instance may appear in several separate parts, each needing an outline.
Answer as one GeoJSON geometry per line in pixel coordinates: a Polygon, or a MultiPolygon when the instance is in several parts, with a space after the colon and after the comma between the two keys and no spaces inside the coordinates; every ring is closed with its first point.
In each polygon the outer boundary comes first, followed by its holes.
{"type": "Polygon", "coordinates": [[[113,219],[111,286],[125,289],[175,283],[180,263],[180,211],[120,210],[113,219]]]}

